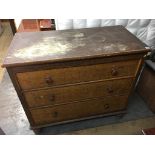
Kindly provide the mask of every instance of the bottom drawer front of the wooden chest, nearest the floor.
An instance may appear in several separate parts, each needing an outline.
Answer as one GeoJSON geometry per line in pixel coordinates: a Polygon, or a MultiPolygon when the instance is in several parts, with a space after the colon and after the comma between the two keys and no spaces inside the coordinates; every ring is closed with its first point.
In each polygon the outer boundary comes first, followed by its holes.
{"type": "Polygon", "coordinates": [[[36,125],[80,119],[126,108],[128,96],[91,99],[73,104],[31,110],[36,125]]]}

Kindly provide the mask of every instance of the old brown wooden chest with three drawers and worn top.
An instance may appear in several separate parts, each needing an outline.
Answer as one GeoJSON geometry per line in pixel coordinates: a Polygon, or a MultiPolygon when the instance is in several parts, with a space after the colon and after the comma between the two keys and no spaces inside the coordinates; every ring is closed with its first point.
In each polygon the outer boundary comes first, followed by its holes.
{"type": "Polygon", "coordinates": [[[17,33],[3,67],[35,129],[124,112],[148,51],[122,26],[17,33]]]}

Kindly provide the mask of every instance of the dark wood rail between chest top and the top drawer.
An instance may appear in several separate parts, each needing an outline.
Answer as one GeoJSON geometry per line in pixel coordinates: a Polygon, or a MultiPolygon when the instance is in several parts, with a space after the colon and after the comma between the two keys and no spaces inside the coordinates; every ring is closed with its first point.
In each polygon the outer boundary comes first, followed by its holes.
{"type": "MultiPolygon", "coordinates": [[[[72,61],[64,61],[64,62],[53,62],[53,63],[44,63],[44,64],[36,64],[36,65],[27,65],[27,66],[10,66],[7,68],[12,68],[15,73],[19,72],[28,72],[28,71],[39,71],[45,69],[58,69],[58,68],[67,68],[67,67],[76,67],[76,66],[87,66],[108,62],[117,62],[117,61],[126,61],[126,60],[135,60],[140,59],[144,56],[144,53],[139,54],[131,54],[131,55],[122,55],[122,56],[113,56],[107,58],[92,58],[83,60],[72,60],[72,61]]],[[[2,66],[4,67],[4,66],[2,66]]]]}

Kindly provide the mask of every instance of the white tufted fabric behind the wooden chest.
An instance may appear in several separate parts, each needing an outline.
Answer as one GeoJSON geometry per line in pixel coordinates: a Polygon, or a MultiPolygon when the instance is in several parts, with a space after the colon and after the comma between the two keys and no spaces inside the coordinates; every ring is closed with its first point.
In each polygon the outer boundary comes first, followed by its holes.
{"type": "Polygon", "coordinates": [[[155,49],[155,19],[56,19],[56,29],[80,29],[122,25],[155,49]]]}

